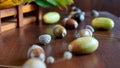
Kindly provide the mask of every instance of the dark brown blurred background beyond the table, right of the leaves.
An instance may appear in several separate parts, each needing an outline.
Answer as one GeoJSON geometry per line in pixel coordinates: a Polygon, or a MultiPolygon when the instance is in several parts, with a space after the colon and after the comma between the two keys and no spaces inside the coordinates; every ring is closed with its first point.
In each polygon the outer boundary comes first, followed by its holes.
{"type": "Polygon", "coordinates": [[[120,16],[120,0],[75,0],[74,5],[84,11],[96,9],[98,11],[108,11],[116,16],[120,16]]]}

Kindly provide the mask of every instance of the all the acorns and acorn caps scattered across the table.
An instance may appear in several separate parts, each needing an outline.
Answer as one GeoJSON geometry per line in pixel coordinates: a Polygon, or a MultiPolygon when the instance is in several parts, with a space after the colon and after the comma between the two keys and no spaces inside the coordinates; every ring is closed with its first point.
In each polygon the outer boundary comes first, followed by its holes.
{"type": "MultiPolygon", "coordinates": [[[[99,17],[99,12],[96,10],[91,11],[91,15],[95,17],[92,20],[92,26],[97,29],[110,30],[114,27],[114,21],[110,18],[99,17]]],[[[44,22],[47,24],[54,24],[59,21],[60,15],[56,12],[47,13],[43,16],[44,22]],[[51,17],[53,16],[53,18],[51,17]],[[54,20],[54,18],[56,18],[54,20]]],[[[85,12],[79,8],[73,6],[70,14],[62,20],[62,25],[57,24],[53,27],[52,33],[55,38],[64,38],[67,35],[67,29],[76,29],[80,22],[85,20],[85,12]]],[[[99,42],[93,37],[94,28],[90,25],[86,25],[76,34],[76,39],[69,43],[68,50],[64,52],[63,58],[70,60],[73,54],[91,54],[95,52],[99,46],[99,42]]],[[[42,45],[50,44],[52,36],[50,34],[43,34],[39,36],[39,42],[42,45]]],[[[47,63],[54,63],[53,56],[48,56],[47,59],[44,49],[36,44],[28,50],[28,61],[24,63],[22,68],[46,68],[45,61],[47,63]]]]}

